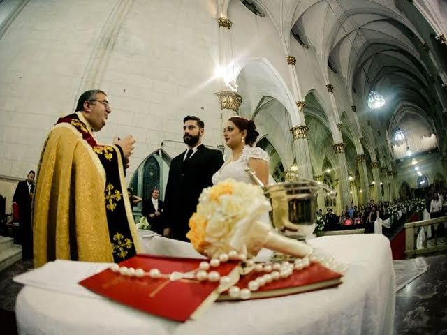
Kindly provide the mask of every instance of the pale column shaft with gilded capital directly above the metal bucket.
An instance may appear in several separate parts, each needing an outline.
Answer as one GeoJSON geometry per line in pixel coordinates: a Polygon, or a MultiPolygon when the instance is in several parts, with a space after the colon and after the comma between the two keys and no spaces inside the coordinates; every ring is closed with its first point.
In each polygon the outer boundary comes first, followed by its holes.
{"type": "Polygon", "coordinates": [[[312,179],[312,164],[310,161],[309,142],[307,142],[307,133],[309,127],[305,125],[293,126],[291,128],[293,136],[293,154],[298,166],[298,177],[312,179]]]}

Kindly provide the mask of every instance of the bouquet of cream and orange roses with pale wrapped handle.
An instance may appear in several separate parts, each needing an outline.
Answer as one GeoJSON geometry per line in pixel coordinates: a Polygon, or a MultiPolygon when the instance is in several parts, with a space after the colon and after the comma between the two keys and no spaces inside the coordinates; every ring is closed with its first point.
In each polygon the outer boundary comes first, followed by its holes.
{"type": "Polygon", "coordinates": [[[202,191],[186,237],[210,258],[231,251],[251,258],[263,247],[299,257],[311,253],[311,246],[283,237],[259,220],[270,209],[261,187],[226,179],[202,191]]]}

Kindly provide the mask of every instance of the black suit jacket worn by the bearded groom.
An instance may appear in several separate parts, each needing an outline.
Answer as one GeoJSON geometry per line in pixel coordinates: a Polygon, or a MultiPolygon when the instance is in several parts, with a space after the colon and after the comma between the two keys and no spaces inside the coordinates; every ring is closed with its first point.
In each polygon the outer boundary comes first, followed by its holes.
{"type": "Polygon", "coordinates": [[[198,198],[203,188],[212,186],[212,175],[221,168],[221,151],[201,144],[186,162],[184,152],[170,163],[168,185],[165,195],[165,224],[171,228],[173,237],[181,241],[189,231],[189,218],[196,211],[198,198]]]}

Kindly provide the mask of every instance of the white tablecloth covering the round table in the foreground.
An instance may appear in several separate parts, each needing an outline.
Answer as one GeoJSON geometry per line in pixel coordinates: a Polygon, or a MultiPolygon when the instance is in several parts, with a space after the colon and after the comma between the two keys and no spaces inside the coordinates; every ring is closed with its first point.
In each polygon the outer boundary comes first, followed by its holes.
{"type": "MultiPolygon", "coordinates": [[[[162,237],[152,238],[152,242],[144,241],[148,253],[162,251],[165,243],[171,252],[193,253],[191,246],[182,242],[162,237]]],[[[198,320],[178,323],[102,297],[62,293],[29,283],[17,297],[18,330],[20,334],[392,334],[395,277],[388,239],[356,234],[319,237],[309,243],[348,265],[344,283],[338,288],[214,303],[198,320]]],[[[84,267],[85,272],[87,265],[84,267]]],[[[54,271],[50,281],[63,277],[54,271]]],[[[78,278],[72,277],[74,287],[78,278]]]]}

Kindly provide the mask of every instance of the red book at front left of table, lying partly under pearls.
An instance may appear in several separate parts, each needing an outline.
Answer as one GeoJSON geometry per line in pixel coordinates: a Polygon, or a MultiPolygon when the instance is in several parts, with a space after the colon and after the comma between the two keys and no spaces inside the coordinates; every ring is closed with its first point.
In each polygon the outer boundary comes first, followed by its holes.
{"type": "MultiPolygon", "coordinates": [[[[136,255],[119,263],[121,267],[141,268],[146,272],[159,269],[162,274],[189,272],[198,268],[203,260],[193,258],[170,258],[156,255],[136,255]]],[[[209,271],[218,271],[221,276],[237,276],[238,262],[226,262],[209,271]]],[[[235,278],[237,281],[237,278],[235,278]]],[[[185,322],[197,318],[203,308],[219,297],[218,282],[196,279],[142,278],[122,276],[110,269],[80,281],[80,285],[121,304],[140,309],[163,318],[185,322]]]]}

